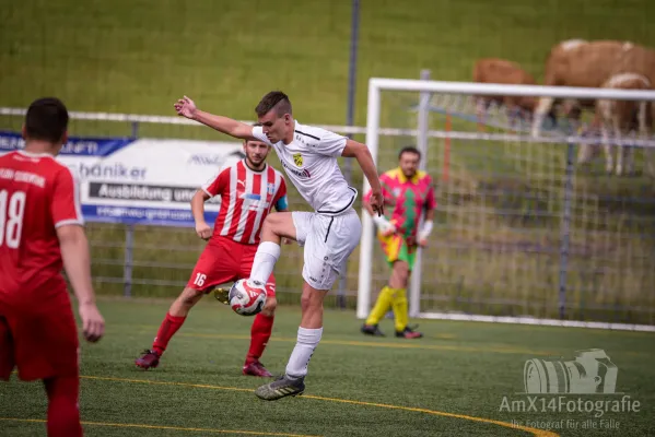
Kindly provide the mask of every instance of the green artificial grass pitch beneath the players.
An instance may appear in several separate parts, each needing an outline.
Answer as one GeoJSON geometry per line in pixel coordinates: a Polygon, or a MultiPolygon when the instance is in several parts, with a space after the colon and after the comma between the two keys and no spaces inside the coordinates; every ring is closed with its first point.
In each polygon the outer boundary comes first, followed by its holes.
{"type": "MultiPolygon", "coordinates": [[[[160,367],[143,371],[133,359],[150,346],[168,302],[103,300],[100,307],[106,336],[82,346],[80,406],[89,436],[528,436],[539,435],[534,433],[548,422],[563,424],[550,430],[562,436],[646,436],[655,427],[648,333],[423,321],[424,339],[373,339],[359,332],[351,312],[328,310],[305,394],[265,402],[253,393],[265,380],[241,375],[250,318],[206,298],[173,338],[160,367]],[[640,402],[639,412],[601,417],[565,406],[553,412],[549,402],[555,395],[543,397],[545,412],[540,400],[538,412],[502,409],[504,398],[525,402],[517,393],[524,391],[527,359],[571,361],[575,351],[592,347],[604,349],[618,367],[616,391],[624,394],[583,399],[629,395],[640,402]],[[512,428],[512,421],[534,433],[512,428]],[[583,428],[593,423],[596,428],[583,428]]],[[[271,371],[283,371],[299,320],[297,309],[279,309],[262,356],[271,371]]],[[[391,321],[382,329],[393,333],[391,321]]],[[[40,383],[14,376],[0,385],[0,435],[45,435],[38,422],[45,409],[40,383]]]]}

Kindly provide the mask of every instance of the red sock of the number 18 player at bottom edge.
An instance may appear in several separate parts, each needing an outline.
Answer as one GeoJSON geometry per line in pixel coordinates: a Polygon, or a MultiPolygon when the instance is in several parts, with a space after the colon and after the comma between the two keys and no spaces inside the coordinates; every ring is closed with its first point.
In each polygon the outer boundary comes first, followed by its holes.
{"type": "Polygon", "coordinates": [[[44,380],[48,393],[48,437],[82,437],[78,376],[44,380]]]}

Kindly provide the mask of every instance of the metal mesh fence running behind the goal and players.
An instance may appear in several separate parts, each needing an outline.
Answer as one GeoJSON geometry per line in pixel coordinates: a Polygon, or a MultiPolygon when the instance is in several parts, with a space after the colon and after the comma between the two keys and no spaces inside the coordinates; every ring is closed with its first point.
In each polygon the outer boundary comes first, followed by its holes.
{"type": "MultiPolygon", "coordinates": [[[[400,146],[416,144],[417,102],[417,95],[387,99],[381,172],[397,165],[400,146]]],[[[601,155],[577,165],[574,141],[537,143],[500,130],[471,130],[468,115],[454,111],[456,102],[434,96],[428,122],[425,169],[436,180],[438,209],[422,257],[420,310],[655,323],[655,184],[644,172],[644,151],[635,152],[635,175],[608,176],[601,155]]],[[[21,114],[2,109],[12,130],[21,114]]],[[[328,128],[363,141],[361,127],[328,128]]],[[[168,117],[97,114],[73,114],[71,132],[213,135],[168,117]]],[[[278,166],[274,157],[269,162],[278,166]]],[[[362,186],[356,165],[351,178],[362,186]]],[[[289,188],[290,208],[307,210],[289,188]]],[[[191,228],[90,223],[87,229],[100,294],[175,296],[204,245],[191,228]]],[[[327,307],[355,307],[359,250],[327,307]]],[[[377,245],[373,261],[375,297],[389,273],[377,245]]],[[[282,304],[299,302],[301,271],[302,249],[284,246],[276,268],[282,304]]]]}

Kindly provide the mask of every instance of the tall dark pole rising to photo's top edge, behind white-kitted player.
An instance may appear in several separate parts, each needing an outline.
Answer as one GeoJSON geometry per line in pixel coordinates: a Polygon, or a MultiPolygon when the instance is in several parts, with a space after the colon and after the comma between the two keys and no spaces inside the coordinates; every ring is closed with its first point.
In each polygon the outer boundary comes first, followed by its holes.
{"type": "MultiPolygon", "coordinates": [[[[358,76],[358,44],[360,33],[360,0],[352,0],[352,23],[350,31],[350,63],[348,68],[348,107],[346,113],[346,125],[354,122],[354,96],[358,76]]],[[[350,137],[350,135],[349,135],[350,137]]],[[[347,157],[343,163],[343,173],[348,185],[352,185],[352,158],[347,157]]],[[[363,193],[362,193],[363,196],[363,193]]],[[[339,277],[339,290],[337,291],[337,306],[346,308],[346,287],[348,284],[348,263],[339,277]]]]}

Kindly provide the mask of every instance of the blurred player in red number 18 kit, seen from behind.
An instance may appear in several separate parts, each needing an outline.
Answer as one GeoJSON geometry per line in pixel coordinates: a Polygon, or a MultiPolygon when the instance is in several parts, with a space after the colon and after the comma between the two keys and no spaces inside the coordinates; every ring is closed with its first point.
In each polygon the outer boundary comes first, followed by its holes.
{"type": "Polygon", "coordinates": [[[25,150],[0,156],[0,378],[9,380],[17,367],[20,379],[44,381],[50,437],[82,436],[78,331],[62,267],[85,339],[96,342],[105,329],[91,285],[79,188],[55,161],[67,127],[59,99],[37,99],[23,126],[25,150]]]}

